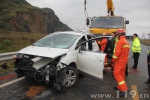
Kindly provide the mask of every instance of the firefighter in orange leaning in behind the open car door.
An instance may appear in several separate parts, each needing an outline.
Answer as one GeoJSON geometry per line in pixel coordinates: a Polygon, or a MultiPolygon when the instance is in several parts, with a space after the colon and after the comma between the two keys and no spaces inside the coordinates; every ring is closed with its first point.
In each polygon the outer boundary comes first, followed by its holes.
{"type": "MultiPolygon", "coordinates": [[[[102,36],[107,36],[107,33],[104,32],[104,33],[102,34],[102,36]]],[[[108,42],[108,39],[107,39],[107,38],[102,38],[101,41],[98,41],[98,44],[100,45],[100,50],[101,50],[102,52],[104,52],[104,53],[107,53],[107,50],[105,50],[105,49],[106,49],[107,42],[108,42]]],[[[106,67],[107,64],[108,64],[108,59],[107,59],[107,54],[106,54],[104,66],[106,67]]]]}

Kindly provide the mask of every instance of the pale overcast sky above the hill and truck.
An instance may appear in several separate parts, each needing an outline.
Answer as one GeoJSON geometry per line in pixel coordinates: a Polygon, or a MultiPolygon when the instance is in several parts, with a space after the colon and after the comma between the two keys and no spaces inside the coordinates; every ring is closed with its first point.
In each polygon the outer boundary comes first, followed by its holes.
{"type": "MultiPolygon", "coordinates": [[[[84,0],[26,0],[39,8],[51,8],[61,22],[73,30],[88,29],[84,10],[84,0]],[[84,27],[85,26],[85,27],[84,27]]],[[[86,0],[88,17],[106,16],[107,0],[86,0]]],[[[113,0],[114,14],[129,20],[127,35],[137,33],[148,38],[150,34],[150,0],[113,0]]]]}

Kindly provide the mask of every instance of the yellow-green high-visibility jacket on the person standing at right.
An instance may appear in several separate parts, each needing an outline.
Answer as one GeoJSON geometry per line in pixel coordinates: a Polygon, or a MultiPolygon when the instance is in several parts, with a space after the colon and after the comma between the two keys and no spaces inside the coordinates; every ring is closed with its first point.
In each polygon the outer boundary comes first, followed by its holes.
{"type": "Polygon", "coordinates": [[[133,52],[133,53],[136,53],[136,52],[140,53],[140,52],[141,52],[141,44],[140,44],[140,41],[139,41],[138,38],[135,38],[135,39],[133,40],[132,52],[133,52]]]}

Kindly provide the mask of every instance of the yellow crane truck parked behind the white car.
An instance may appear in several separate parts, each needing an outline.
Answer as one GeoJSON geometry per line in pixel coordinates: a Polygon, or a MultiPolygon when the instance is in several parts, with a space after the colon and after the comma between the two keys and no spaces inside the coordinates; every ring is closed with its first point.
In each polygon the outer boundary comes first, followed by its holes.
{"type": "Polygon", "coordinates": [[[108,12],[107,16],[87,18],[86,24],[89,27],[90,33],[93,33],[95,36],[102,35],[104,32],[111,35],[112,32],[115,32],[120,28],[124,29],[126,32],[126,24],[129,24],[129,21],[123,16],[114,15],[114,5],[112,0],[107,0],[106,4],[108,12]]]}

